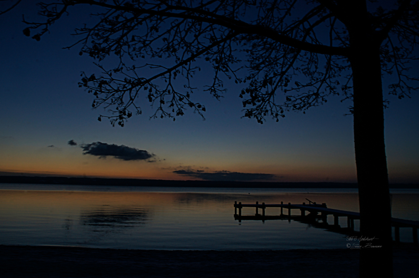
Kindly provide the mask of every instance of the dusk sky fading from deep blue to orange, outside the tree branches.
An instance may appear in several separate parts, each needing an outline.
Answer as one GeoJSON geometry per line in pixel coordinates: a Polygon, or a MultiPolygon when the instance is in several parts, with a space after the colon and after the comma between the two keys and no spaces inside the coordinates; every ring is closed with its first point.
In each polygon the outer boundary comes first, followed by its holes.
{"type": "MultiPolygon", "coordinates": [[[[150,120],[154,110],[145,95],[142,115],[123,128],[98,122],[105,112],[92,109],[93,96],[78,87],[81,71],[90,75],[98,69],[92,58],[78,55],[77,46],[62,49],[76,41],[70,35],[75,28],[92,20],[88,8],[70,12],[37,42],[22,33],[22,14],[29,19],[36,14],[29,3],[0,16],[0,174],[356,182],[353,118],[344,115],[351,103],[339,97],[306,114],[289,112],[279,122],[260,125],[241,118],[243,86],[225,82],[220,101],[202,92],[211,74],[204,68],[194,82],[195,99],[207,108],[205,120],[190,110],[175,122],[150,120]],[[117,154],[102,156],[103,148],[117,154]]],[[[418,94],[401,100],[385,96],[391,183],[419,183],[418,94]]]]}

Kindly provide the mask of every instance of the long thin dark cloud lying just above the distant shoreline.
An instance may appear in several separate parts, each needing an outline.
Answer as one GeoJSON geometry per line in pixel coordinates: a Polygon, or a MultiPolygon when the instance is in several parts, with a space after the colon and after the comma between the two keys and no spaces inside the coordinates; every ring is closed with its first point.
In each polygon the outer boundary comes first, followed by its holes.
{"type": "Polygon", "coordinates": [[[274,174],[257,174],[257,173],[239,173],[230,171],[217,171],[214,173],[205,173],[202,170],[177,170],[173,171],[178,175],[199,178],[206,181],[254,181],[254,180],[271,180],[274,174]]]}

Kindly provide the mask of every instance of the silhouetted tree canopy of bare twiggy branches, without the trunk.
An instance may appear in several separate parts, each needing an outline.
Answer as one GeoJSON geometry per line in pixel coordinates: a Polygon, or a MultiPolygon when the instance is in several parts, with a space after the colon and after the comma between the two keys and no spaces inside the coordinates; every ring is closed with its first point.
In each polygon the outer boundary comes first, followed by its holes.
{"type": "Polygon", "coordinates": [[[99,7],[97,23],[78,28],[79,40],[72,45],[98,61],[119,56],[114,68],[98,64],[102,74],[83,74],[80,82],[96,96],[93,107],[108,107],[113,114],[98,120],[109,117],[123,126],[133,112],[141,114],[139,98],[156,105],[153,117],[175,120],[186,108],[203,116],[205,106],[191,97],[196,88],[190,78],[205,61],[214,69],[205,91],[218,99],[223,79],[233,79],[241,84],[244,116],[263,123],[265,117],[278,120],[286,111],[321,105],[330,95],[352,98],[349,59],[358,49],[351,48],[350,33],[361,20],[380,47],[383,73],[396,76],[389,93],[402,98],[417,89],[412,81],[419,79],[407,71],[408,62],[417,59],[418,3],[390,2],[62,0],[39,3],[46,20],[27,22],[23,33],[37,31],[32,38],[40,40],[72,6],[99,7]],[[142,62],[146,56],[156,63],[142,62]],[[148,67],[160,71],[150,75],[148,67]],[[179,85],[176,78],[185,82],[179,85]]]}

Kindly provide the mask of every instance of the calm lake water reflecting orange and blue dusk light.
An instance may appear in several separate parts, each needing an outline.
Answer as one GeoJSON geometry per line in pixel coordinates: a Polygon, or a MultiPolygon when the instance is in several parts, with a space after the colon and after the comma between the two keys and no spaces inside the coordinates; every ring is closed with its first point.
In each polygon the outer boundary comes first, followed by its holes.
{"type": "MultiPolygon", "coordinates": [[[[393,217],[419,220],[419,190],[392,193],[393,217]]],[[[308,224],[238,223],[233,217],[234,201],[302,203],[305,198],[333,209],[358,211],[356,189],[0,184],[0,244],[158,250],[345,248],[346,236],[308,224]]],[[[254,208],[242,213],[254,214],[254,208]]],[[[277,215],[279,208],[268,208],[266,214],[277,215]]],[[[339,224],[346,227],[346,218],[341,217],[339,224]]],[[[411,229],[400,232],[401,241],[412,242],[411,229]]]]}

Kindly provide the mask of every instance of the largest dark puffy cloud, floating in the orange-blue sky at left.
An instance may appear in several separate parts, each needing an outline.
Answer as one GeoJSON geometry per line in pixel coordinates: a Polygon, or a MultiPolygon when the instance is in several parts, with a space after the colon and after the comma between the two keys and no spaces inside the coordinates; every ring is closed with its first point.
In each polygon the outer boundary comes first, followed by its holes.
{"type": "MultiPolygon", "coordinates": [[[[121,160],[147,160],[154,157],[153,153],[147,152],[147,150],[139,150],[136,148],[130,148],[125,145],[107,144],[102,142],[93,142],[91,144],[80,145],[85,152],[83,154],[90,154],[92,156],[99,156],[99,158],[106,156],[114,156],[121,160]]],[[[148,162],[154,162],[149,160],[148,162]]]]}

